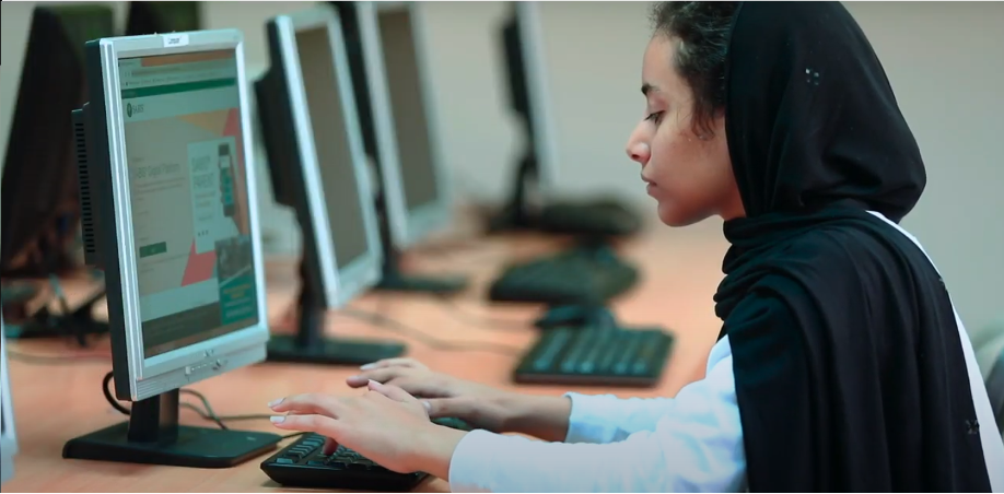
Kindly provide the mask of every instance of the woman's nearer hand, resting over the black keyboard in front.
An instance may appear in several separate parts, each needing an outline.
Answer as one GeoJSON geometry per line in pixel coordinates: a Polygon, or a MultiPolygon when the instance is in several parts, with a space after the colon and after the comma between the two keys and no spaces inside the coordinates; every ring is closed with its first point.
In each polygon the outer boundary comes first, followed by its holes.
{"type": "Polygon", "coordinates": [[[276,427],[327,437],[325,454],[340,444],[398,473],[448,478],[453,450],[465,434],[433,424],[419,400],[376,381],[361,397],[300,395],[269,407],[287,413],[272,417],[276,427]]]}

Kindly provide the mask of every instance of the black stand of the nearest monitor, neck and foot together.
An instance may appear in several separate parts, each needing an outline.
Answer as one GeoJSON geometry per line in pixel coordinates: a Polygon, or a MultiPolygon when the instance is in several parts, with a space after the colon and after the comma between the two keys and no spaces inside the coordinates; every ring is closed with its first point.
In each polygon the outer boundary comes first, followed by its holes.
{"type": "Polygon", "coordinates": [[[77,460],[220,469],[276,448],[278,434],[178,425],[178,390],[132,404],[129,422],[70,439],[62,457],[77,460]]]}

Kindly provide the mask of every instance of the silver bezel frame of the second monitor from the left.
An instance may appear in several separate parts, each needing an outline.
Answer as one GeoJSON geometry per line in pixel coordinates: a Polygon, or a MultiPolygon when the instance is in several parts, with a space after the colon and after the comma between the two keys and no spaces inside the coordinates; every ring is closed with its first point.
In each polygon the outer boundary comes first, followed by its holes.
{"type": "MultiPolygon", "coordinates": [[[[282,71],[290,87],[290,107],[292,109],[294,132],[296,134],[300,164],[303,167],[307,190],[307,204],[311,221],[314,222],[316,238],[313,239],[320,258],[322,280],[325,297],[329,308],[340,308],[376,285],[382,275],[383,250],[380,240],[380,225],[376,221],[376,205],[370,179],[369,162],[363,146],[362,129],[359,125],[359,113],[355,107],[355,94],[352,89],[349,56],[346,50],[341,22],[335,9],[322,5],[307,10],[279,15],[275,19],[279,45],[282,49],[282,71]],[[366,235],[366,251],[349,266],[338,269],[338,258],[330,228],[330,219],[324,200],[327,196],[322,189],[322,164],[318,162],[314,146],[315,136],[311,124],[311,111],[307,105],[306,90],[300,69],[300,54],[296,50],[296,32],[327,27],[335,59],[335,73],[338,80],[337,91],[341,98],[342,118],[348,130],[349,154],[352,155],[352,167],[355,172],[359,190],[360,209],[363,213],[363,225],[366,235]]],[[[307,239],[304,238],[304,242],[307,239]]]]}

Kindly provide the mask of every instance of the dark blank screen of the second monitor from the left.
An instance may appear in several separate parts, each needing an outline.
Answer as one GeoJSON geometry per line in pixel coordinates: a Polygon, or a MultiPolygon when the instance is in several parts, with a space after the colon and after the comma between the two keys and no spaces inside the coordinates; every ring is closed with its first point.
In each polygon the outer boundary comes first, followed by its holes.
{"type": "Polygon", "coordinates": [[[296,32],[296,51],[317,151],[317,168],[338,269],[366,254],[366,225],[358,187],[335,56],[327,26],[296,32]]]}

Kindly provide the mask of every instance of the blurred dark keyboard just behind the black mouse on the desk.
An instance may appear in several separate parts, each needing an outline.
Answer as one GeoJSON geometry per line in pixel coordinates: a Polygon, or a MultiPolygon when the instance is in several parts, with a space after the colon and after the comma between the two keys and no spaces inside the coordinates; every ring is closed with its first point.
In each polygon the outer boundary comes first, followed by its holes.
{"type": "Polygon", "coordinates": [[[489,289],[494,302],[604,304],[638,282],[638,269],[608,246],[579,247],[510,266],[489,289]]]}

